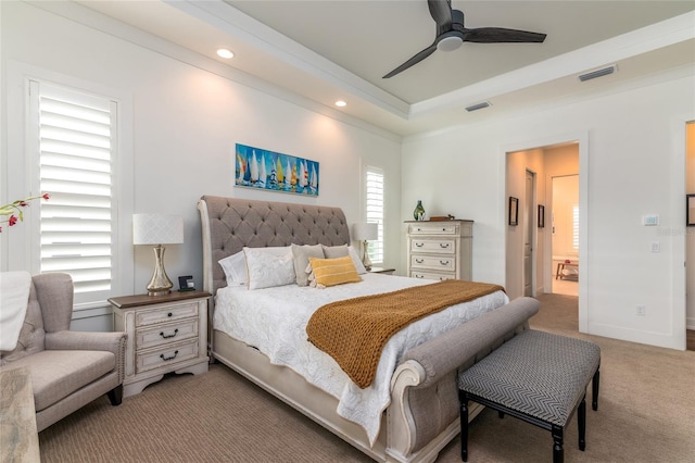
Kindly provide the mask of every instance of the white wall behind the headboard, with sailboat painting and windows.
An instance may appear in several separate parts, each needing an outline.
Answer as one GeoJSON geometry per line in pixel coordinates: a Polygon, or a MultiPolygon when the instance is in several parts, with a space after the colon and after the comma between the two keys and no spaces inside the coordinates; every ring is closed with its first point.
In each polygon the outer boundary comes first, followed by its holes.
{"type": "MultiPolygon", "coordinates": [[[[175,283],[178,275],[193,275],[197,286],[202,286],[201,227],[195,209],[202,195],[337,205],[352,224],[361,221],[363,214],[361,178],[365,165],[384,171],[389,211],[386,264],[399,264],[399,137],[325,108],[320,112],[329,115],[323,115],[308,109],[308,102],[298,104],[296,98],[285,98],[279,89],[274,91],[277,96],[271,96],[239,84],[235,80],[238,73],[212,60],[208,63],[200,55],[194,57],[195,65],[187,64],[190,53],[185,50],[172,49],[178,57],[173,59],[23,2],[1,2],[0,9],[3,75],[31,70],[93,83],[125,96],[124,104],[131,108],[131,117],[121,123],[132,133],[132,139],[126,140],[121,149],[132,157],[132,171],[125,173],[123,185],[131,184],[132,191],[122,192],[124,198],[132,196],[134,200],[129,207],[124,205],[118,225],[126,230],[127,241],[134,212],[184,215],[185,243],[167,247],[165,254],[167,273],[175,283]],[[214,72],[201,68],[207,65],[214,72]],[[232,187],[236,142],[320,162],[320,196],[309,199],[232,187]],[[130,183],[126,182],[128,176],[132,177],[130,183]]],[[[86,14],[94,26],[106,24],[114,34],[121,30],[128,34],[127,28],[114,25],[111,20],[92,17],[91,12],[77,4],[71,9],[76,9],[80,17],[86,14]]],[[[13,82],[22,78],[12,77],[13,82]]],[[[4,122],[2,130],[7,130],[8,145],[16,147],[9,150],[4,142],[2,146],[0,165],[9,162],[14,166],[3,170],[0,178],[5,200],[24,197],[27,182],[26,173],[21,172],[24,164],[18,161],[25,148],[23,89],[3,80],[2,91],[3,97],[9,97],[3,98],[3,116],[13,121],[4,122]]],[[[123,189],[123,185],[118,187],[123,189]]],[[[21,239],[20,234],[15,235],[12,239],[21,239]]],[[[131,263],[126,272],[131,281],[121,288],[126,292],[127,288],[143,292],[152,274],[153,252],[147,247],[132,251],[130,242],[122,245],[127,252],[135,253],[135,267],[131,263]]],[[[26,256],[10,254],[8,246],[12,248],[3,241],[1,267],[27,268],[26,256]]]]}

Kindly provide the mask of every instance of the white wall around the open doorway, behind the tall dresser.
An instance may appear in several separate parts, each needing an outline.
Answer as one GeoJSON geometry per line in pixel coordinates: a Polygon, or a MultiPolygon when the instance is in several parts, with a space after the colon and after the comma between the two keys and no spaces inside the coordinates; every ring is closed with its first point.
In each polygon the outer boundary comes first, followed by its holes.
{"type": "Polygon", "coordinates": [[[432,213],[476,221],[473,278],[507,284],[507,147],[586,134],[580,327],[584,316],[591,334],[684,349],[684,237],[659,230],[683,229],[684,122],[695,114],[694,74],[691,66],[614,93],[405,139],[402,215],[422,199],[432,213]],[[659,214],[659,227],[643,226],[644,214],[659,214]],[[655,240],[660,253],[650,252],[655,240]],[[635,315],[637,304],[646,305],[645,316],[635,315]]]}

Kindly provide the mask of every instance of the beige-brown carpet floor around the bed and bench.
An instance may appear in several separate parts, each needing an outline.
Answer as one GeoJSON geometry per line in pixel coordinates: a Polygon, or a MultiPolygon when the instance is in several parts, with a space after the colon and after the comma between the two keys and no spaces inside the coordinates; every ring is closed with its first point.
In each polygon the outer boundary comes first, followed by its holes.
{"type": "MultiPolygon", "coordinates": [[[[695,352],[578,333],[577,298],[545,295],[531,326],[597,342],[598,411],[586,411],[586,450],[568,426],[568,462],[695,462],[695,352]]],[[[366,455],[229,368],[166,375],[111,406],[100,398],[39,434],[51,462],[368,462],[366,455]]],[[[552,460],[551,434],[484,410],[470,462],[552,460]]],[[[460,462],[455,438],[437,462],[460,462]]]]}

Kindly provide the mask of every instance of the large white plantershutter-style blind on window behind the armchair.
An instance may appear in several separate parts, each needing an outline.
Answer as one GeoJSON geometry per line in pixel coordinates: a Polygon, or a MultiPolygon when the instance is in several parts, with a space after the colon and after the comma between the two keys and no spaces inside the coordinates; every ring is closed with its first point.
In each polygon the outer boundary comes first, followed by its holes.
{"type": "Polygon", "coordinates": [[[39,271],[65,272],[77,308],[110,296],[115,204],[117,103],[43,82],[30,83],[38,136],[39,271]]]}

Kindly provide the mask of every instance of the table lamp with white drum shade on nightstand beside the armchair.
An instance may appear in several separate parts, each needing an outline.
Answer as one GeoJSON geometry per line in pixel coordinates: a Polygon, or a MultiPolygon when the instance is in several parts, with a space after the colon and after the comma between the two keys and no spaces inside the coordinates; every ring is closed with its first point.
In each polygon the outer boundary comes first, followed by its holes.
{"type": "Polygon", "coordinates": [[[180,215],[135,214],[132,216],[132,243],[156,245],[154,247],[154,273],[148,284],[148,295],[162,296],[172,290],[174,284],[164,270],[162,245],[184,242],[184,218],[180,215]]]}

